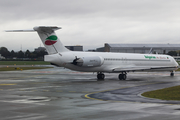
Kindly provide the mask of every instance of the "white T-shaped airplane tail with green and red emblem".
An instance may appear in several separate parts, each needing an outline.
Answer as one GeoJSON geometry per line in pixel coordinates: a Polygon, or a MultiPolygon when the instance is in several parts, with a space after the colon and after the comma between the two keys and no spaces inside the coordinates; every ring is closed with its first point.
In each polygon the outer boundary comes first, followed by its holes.
{"type": "Polygon", "coordinates": [[[48,54],[55,54],[59,52],[69,51],[63,46],[55,31],[61,29],[56,26],[37,26],[33,30],[8,30],[6,32],[32,32],[36,31],[42,40],[42,43],[46,47],[48,54]]]}

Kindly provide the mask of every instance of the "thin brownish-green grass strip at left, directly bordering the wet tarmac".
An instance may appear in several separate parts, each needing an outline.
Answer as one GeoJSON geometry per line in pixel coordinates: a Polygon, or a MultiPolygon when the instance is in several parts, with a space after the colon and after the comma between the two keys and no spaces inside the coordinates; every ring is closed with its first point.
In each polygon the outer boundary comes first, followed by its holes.
{"type": "Polygon", "coordinates": [[[47,69],[52,67],[2,67],[0,71],[22,71],[22,70],[32,70],[32,69],[47,69]]]}

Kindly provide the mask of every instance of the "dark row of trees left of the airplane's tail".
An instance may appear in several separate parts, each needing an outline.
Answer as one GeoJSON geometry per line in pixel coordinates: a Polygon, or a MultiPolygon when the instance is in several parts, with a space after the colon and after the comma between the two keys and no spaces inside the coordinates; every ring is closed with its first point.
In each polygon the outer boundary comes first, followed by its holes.
{"type": "Polygon", "coordinates": [[[20,50],[18,52],[15,52],[14,50],[9,51],[6,47],[1,47],[0,54],[1,56],[5,57],[6,60],[43,60],[44,55],[47,55],[47,52],[45,50],[33,52],[30,52],[29,50],[23,52],[22,50],[20,50]]]}

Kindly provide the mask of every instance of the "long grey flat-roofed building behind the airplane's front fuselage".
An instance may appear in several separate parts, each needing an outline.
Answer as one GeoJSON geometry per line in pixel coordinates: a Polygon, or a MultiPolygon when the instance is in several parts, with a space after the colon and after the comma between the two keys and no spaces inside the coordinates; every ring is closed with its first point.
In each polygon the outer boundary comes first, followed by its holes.
{"type": "Polygon", "coordinates": [[[178,51],[178,50],[180,50],[180,44],[110,44],[110,43],[105,43],[104,45],[104,52],[149,53],[150,51],[152,51],[152,53],[167,54],[169,51],[178,51]]]}

